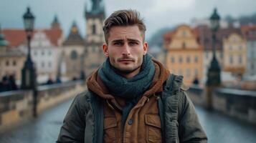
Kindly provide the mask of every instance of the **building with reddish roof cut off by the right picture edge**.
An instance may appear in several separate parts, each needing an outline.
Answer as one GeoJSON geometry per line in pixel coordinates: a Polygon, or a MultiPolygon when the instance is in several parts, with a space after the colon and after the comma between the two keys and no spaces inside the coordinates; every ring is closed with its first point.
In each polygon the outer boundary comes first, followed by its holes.
{"type": "Polygon", "coordinates": [[[242,34],[247,39],[246,76],[256,75],[256,25],[241,26],[242,34]]]}

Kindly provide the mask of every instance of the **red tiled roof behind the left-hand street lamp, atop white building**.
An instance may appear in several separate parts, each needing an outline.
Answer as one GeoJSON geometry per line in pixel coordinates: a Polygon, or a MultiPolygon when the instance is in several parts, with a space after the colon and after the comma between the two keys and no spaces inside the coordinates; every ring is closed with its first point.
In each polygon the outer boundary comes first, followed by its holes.
{"type": "MultiPolygon", "coordinates": [[[[51,43],[54,46],[59,46],[58,39],[62,36],[61,29],[36,29],[35,31],[44,31],[51,43]]],[[[3,29],[2,33],[11,47],[19,46],[27,41],[27,35],[23,29],[3,29]]]]}

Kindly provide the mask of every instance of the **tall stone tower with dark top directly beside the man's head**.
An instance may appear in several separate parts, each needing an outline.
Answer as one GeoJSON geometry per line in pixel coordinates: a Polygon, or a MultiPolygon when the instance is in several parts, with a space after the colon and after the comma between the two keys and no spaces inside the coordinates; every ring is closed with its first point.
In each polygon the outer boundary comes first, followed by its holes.
{"type": "Polygon", "coordinates": [[[87,10],[85,6],[86,37],[84,71],[86,76],[105,61],[105,55],[102,51],[102,46],[105,42],[103,34],[105,8],[103,1],[92,2],[93,4],[90,10],[87,10]]]}

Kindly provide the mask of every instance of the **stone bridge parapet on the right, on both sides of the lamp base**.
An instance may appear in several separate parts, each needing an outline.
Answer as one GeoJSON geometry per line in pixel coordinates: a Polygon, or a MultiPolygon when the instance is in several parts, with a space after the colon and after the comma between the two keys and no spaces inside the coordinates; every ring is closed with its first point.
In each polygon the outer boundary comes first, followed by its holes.
{"type": "MultiPolygon", "coordinates": [[[[192,85],[188,94],[194,104],[207,107],[206,89],[192,85]]],[[[215,89],[212,93],[212,109],[256,124],[256,92],[239,89],[215,89]]]]}

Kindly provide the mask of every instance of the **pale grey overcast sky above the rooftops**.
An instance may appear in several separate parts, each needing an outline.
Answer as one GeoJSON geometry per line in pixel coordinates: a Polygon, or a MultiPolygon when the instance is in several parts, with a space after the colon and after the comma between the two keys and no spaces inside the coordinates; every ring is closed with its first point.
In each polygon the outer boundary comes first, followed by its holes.
{"type": "MultiPolygon", "coordinates": [[[[90,0],[0,0],[2,28],[23,28],[22,15],[30,6],[36,16],[35,27],[47,28],[57,14],[65,35],[76,21],[85,35],[85,1],[90,0]]],[[[104,0],[103,0],[104,1],[104,0]]],[[[217,7],[220,16],[234,17],[256,12],[256,0],[105,0],[106,15],[118,9],[137,9],[145,19],[147,36],[158,29],[176,24],[189,24],[192,18],[205,18],[217,7]]],[[[148,38],[148,37],[147,37],[148,38]]]]}

